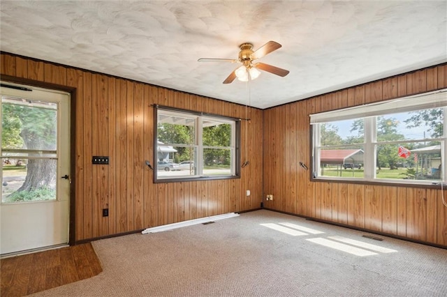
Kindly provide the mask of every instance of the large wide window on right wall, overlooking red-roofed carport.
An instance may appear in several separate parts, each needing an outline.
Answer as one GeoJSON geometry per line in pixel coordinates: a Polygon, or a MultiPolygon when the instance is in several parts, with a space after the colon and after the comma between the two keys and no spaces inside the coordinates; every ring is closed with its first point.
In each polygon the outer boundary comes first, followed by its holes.
{"type": "Polygon", "coordinates": [[[312,114],[313,177],[445,181],[446,90],[312,114]]]}

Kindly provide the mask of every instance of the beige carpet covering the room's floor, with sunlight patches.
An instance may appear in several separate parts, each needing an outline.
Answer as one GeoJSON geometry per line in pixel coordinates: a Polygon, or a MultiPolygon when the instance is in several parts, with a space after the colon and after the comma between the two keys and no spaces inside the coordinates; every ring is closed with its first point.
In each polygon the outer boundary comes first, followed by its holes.
{"type": "Polygon", "coordinates": [[[447,296],[447,250],[363,235],[272,211],[242,213],[96,241],[103,273],[34,296],[447,296]]]}

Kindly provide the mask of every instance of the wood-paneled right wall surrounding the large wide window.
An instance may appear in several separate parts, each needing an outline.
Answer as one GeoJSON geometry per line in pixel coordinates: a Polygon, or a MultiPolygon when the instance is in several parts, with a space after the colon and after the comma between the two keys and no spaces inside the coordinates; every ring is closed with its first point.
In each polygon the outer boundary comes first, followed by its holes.
{"type": "Polygon", "coordinates": [[[263,185],[274,197],[265,207],[447,246],[441,190],[311,181],[299,165],[312,163],[309,114],[444,88],[446,65],[265,109],[263,185]]]}

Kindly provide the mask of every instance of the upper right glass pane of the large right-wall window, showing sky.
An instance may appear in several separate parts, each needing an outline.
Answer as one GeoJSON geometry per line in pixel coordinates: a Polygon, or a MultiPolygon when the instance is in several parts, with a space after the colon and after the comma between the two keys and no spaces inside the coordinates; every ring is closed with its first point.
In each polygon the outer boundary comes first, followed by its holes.
{"type": "Polygon", "coordinates": [[[444,109],[387,114],[376,121],[378,141],[438,138],[443,134],[444,109]]]}

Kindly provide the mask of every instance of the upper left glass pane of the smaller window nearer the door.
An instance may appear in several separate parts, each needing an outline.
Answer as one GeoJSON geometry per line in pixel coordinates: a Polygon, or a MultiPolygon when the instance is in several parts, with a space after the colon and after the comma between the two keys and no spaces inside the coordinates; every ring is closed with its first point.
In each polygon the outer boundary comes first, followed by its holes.
{"type": "Polygon", "coordinates": [[[161,144],[194,144],[195,123],[194,117],[159,112],[157,139],[161,144]]]}

